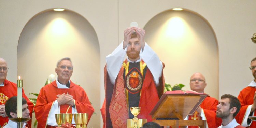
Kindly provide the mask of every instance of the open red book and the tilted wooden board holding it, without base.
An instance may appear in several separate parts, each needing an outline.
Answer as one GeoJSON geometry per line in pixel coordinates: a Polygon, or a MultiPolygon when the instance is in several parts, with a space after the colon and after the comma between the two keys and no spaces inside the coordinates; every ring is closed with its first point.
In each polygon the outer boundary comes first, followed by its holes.
{"type": "Polygon", "coordinates": [[[167,91],[150,115],[153,119],[184,119],[187,115],[193,115],[207,96],[191,90],[167,91]]]}

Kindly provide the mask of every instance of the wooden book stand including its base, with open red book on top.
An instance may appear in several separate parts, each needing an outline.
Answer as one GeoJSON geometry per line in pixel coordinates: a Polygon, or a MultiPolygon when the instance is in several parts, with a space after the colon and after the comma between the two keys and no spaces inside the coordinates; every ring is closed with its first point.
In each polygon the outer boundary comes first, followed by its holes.
{"type": "Polygon", "coordinates": [[[194,91],[167,91],[162,95],[151,111],[153,122],[161,126],[185,128],[185,126],[200,126],[206,128],[206,120],[184,120],[187,115],[193,115],[207,94],[194,91]]]}

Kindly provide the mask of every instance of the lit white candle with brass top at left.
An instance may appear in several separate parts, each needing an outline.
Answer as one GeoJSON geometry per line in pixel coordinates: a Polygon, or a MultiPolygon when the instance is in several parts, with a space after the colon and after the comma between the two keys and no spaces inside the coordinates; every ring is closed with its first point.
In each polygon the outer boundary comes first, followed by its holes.
{"type": "Polygon", "coordinates": [[[22,80],[20,80],[20,76],[19,76],[19,80],[17,80],[17,100],[18,100],[18,104],[17,104],[17,115],[18,117],[22,117],[22,80]]]}

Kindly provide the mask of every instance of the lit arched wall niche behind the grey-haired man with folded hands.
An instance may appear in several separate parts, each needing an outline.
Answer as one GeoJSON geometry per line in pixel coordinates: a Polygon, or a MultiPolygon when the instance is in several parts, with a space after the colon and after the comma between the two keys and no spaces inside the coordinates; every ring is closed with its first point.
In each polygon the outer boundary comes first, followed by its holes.
{"type": "Polygon", "coordinates": [[[70,57],[74,66],[71,81],[84,88],[98,110],[88,126],[100,127],[100,95],[95,95],[100,92],[100,48],[94,28],[68,9],[48,9],[33,16],[23,28],[17,48],[18,75],[28,97],[39,93],[50,74],[57,78],[56,63],[64,57],[70,57]]]}

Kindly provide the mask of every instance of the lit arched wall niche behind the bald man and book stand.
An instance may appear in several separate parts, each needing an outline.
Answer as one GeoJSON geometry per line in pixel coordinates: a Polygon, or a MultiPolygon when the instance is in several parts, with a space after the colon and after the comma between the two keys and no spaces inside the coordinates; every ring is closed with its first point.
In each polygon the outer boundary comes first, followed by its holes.
{"type": "Polygon", "coordinates": [[[206,78],[205,93],[218,99],[218,43],[213,28],[200,14],[188,9],[166,10],[144,27],[145,41],[165,63],[165,82],[190,90],[196,72],[206,78]]]}

